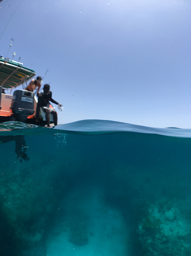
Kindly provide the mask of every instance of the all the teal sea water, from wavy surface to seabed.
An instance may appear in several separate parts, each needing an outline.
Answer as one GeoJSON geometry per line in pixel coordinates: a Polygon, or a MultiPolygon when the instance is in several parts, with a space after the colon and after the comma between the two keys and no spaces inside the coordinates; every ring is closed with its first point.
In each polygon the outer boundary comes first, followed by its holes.
{"type": "Polygon", "coordinates": [[[191,255],[191,130],[7,122],[0,142],[1,256],[191,255]]]}

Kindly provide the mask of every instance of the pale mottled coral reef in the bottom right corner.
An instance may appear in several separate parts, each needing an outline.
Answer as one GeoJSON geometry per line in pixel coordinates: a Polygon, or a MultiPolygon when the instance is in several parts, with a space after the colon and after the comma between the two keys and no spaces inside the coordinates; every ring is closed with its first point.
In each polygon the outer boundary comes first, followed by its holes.
{"type": "Polygon", "coordinates": [[[191,222],[180,206],[170,202],[151,204],[138,224],[138,234],[146,255],[187,255],[191,251],[191,222]]]}

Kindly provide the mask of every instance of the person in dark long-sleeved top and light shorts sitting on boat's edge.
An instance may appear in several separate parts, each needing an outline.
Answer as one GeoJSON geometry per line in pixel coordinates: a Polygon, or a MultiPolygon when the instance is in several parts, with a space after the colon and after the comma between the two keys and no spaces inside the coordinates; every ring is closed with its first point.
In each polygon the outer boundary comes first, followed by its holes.
{"type": "Polygon", "coordinates": [[[50,126],[50,113],[53,114],[53,121],[54,121],[54,125],[57,126],[57,112],[50,107],[50,102],[53,102],[55,104],[57,104],[59,107],[62,107],[62,105],[60,103],[58,103],[57,101],[55,101],[54,99],[52,99],[52,92],[50,91],[50,85],[49,84],[45,84],[44,88],[43,88],[43,92],[41,92],[38,97],[38,103],[37,103],[37,108],[36,108],[36,120],[35,123],[38,124],[39,123],[39,112],[40,109],[46,113],[46,121],[47,121],[47,126],[50,126]]]}

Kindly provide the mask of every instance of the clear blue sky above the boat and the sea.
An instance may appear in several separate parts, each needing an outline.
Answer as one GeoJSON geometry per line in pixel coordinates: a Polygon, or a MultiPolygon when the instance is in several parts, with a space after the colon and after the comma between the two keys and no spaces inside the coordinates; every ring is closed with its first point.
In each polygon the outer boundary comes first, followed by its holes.
{"type": "Polygon", "coordinates": [[[59,124],[191,128],[190,0],[3,0],[0,24],[0,55],[49,69],[59,124]]]}

